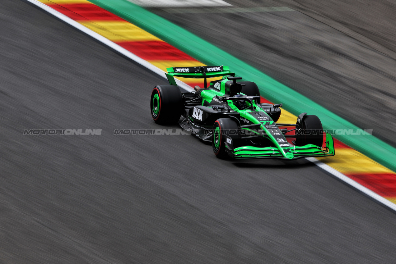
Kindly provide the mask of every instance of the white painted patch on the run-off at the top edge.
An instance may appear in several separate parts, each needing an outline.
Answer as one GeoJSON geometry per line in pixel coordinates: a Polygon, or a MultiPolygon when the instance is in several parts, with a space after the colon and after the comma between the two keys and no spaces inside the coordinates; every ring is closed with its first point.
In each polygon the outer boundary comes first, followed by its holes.
{"type": "Polygon", "coordinates": [[[128,0],[145,8],[232,6],[223,0],[128,0]]]}

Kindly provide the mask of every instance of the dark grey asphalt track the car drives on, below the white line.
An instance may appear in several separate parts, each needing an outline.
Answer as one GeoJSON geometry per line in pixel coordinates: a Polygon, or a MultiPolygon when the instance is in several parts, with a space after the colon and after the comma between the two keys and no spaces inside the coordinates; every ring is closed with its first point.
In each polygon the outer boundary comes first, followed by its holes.
{"type": "Polygon", "coordinates": [[[391,211],[304,160],[114,136],[162,128],[148,98],[164,79],[25,2],[1,1],[0,21],[1,263],[394,262],[391,211]]]}

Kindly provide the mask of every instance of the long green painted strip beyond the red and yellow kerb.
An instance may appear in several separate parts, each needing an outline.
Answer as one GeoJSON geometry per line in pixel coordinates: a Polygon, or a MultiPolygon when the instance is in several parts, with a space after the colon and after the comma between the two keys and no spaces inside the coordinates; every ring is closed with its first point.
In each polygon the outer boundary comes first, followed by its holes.
{"type": "MultiPolygon", "coordinates": [[[[244,79],[257,83],[261,87],[260,91],[263,97],[272,102],[282,102],[284,108],[294,115],[299,115],[301,112],[318,115],[325,129],[359,129],[354,124],[265,75],[246,62],[140,6],[127,0],[89,1],[143,28],[200,62],[207,65],[229,66],[244,79]]],[[[396,172],[396,149],[378,138],[371,135],[360,136],[359,138],[344,135],[337,136],[337,139],[396,172]]]]}

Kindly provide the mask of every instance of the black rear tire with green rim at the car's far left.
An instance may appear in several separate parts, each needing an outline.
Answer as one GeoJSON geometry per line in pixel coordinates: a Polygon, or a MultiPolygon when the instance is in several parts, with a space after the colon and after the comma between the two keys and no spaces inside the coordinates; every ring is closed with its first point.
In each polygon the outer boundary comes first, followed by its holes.
{"type": "Polygon", "coordinates": [[[157,124],[175,124],[183,111],[183,101],[179,87],[157,85],[151,93],[150,111],[157,124]]]}

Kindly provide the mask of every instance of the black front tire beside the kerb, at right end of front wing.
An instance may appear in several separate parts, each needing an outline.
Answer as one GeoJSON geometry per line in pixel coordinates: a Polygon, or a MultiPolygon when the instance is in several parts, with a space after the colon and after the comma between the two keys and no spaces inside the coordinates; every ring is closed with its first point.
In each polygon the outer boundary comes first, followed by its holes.
{"type": "Polygon", "coordinates": [[[323,145],[323,127],[319,117],[316,115],[305,115],[303,120],[297,126],[296,146],[305,146],[313,144],[318,147],[323,145]]]}

